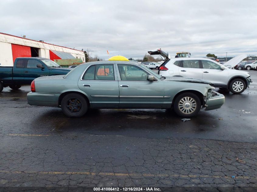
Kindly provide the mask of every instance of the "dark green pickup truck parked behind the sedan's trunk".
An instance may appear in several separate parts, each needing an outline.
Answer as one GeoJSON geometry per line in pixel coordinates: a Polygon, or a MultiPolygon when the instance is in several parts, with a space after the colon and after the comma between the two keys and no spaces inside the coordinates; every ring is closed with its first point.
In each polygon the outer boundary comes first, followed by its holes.
{"type": "Polygon", "coordinates": [[[19,89],[30,85],[37,77],[67,74],[71,68],[62,68],[50,59],[40,57],[18,57],[13,67],[0,65],[0,92],[4,87],[19,89]]]}

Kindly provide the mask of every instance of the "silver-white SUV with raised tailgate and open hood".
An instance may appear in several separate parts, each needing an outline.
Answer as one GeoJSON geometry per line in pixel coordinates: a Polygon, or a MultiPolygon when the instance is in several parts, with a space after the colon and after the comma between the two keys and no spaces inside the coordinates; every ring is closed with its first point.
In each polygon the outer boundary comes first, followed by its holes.
{"type": "MultiPolygon", "coordinates": [[[[246,71],[229,69],[220,63],[207,58],[179,57],[170,58],[161,49],[148,51],[150,55],[161,55],[166,61],[159,67],[158,74],[164,77],[191,77],[212,82],[214,87],[229,89],[232,93],[242,93],[252,82],[246,71]]],[[[232,68],[247,55],[236,56],[227,64],[232,68]]]]}

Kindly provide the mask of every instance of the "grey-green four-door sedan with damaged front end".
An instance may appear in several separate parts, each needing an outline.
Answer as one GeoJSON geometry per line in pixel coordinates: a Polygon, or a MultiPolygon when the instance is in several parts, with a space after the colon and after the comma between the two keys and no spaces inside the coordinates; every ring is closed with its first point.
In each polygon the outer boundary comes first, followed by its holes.
{"type": "Polygon", "coordinates": [[[61,107],[68,117],[88,108],[174,109],[182,117],[220,108],[225,97],[202,79],[165,78],[143,64],[98,61],[81,64],[66,75],[44,76],[31,83],[28,103],[61,107]]]}

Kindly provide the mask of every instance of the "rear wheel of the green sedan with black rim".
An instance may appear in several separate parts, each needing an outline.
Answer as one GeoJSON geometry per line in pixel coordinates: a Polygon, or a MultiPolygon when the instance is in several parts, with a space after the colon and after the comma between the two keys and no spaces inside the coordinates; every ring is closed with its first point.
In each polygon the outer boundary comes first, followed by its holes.
{"type": "Polygon", "coordinates": [[[87,112],[88,104],[83,96],[70,93],[62,99],[61,109],[68,117],[81,117],[87,112]]]}

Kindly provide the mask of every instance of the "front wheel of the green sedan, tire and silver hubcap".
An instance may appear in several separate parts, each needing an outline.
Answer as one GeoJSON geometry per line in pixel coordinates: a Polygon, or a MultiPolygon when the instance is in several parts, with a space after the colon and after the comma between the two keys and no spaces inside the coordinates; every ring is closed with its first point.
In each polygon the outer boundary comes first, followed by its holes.
{"type": "Polygon", "coordinates": [[[196,116],[201,109],[201,101],[194,93],[182,93],[174,100],[174,111],[182,117],[196,116]]]}

